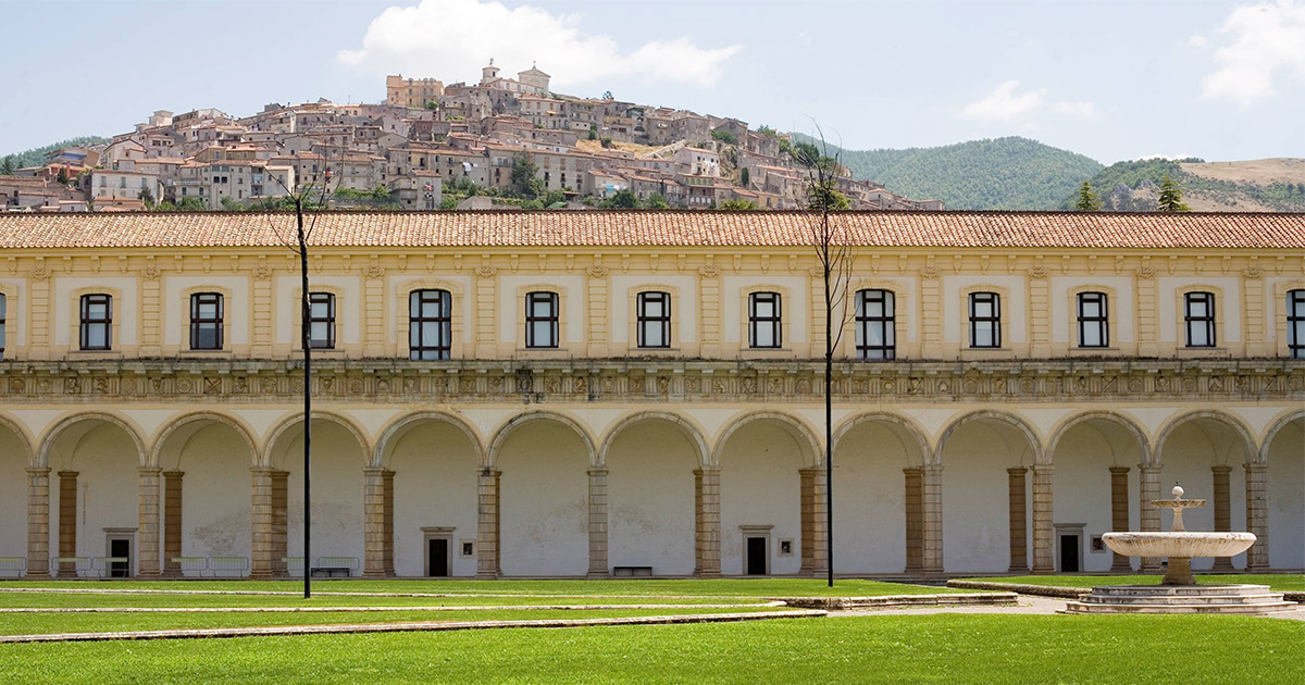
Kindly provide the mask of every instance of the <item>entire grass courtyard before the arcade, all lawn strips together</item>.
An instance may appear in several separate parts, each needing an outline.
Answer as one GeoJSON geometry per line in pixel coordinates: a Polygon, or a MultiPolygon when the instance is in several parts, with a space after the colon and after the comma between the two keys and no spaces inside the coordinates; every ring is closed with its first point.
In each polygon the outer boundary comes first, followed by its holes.
{"type": "MultiPolygon", "coordinates": [[[[1040,579],[1045,579],[1039,577],[1040,579]]],[[[1245,577],[1238,577],[1245,578],[1245,577]]],[[[1052,581],[1062,577],[1049,578],[1052,581]]],[[[1100,582],[1100,578],[1095,581],[1100,582]]],[[[1244,581],[1246,582],[1246,581],[1244,581]]],[[[813,579],[5,582],[0,634],[384,621],[539,620],[775,611],[813,579]],[[48,590],[128,590],[130,594],[48,590]],[[47,591],[39,591],[47,590],[47,591]],[[185,594],[141,594],[183,590],[185,594]],[[385,592],[358,596],[341,592],[385,592]],[[435,594],[440,596],[402,596],[435,594]],[[656,604],[658,608],[639,605],[656,604]],[[322,612],[184,609],[313,607],[322,612]],[[559,609],[557,605],[574,607],[559,609]],[[354,607],[355,611],[348,611],[354,607]],[[356,611],[378,607],[384,611],[356,611]],[[440,607],[448,611],[431,611],[440,607]],[[531,608],[543,607],[543,608],[531,608]],[[603,607],[603,608],[596,608],[603,607]],[[722,608],[723,607],[723,608],[722,608]],[[339,609],[339,611],[334,611],[339,609]]],[[[945,592],[839,581],[838,596],[945,592]]],[[[1305,621],[1235,616],[835,615],[732,624],[0,645],[7,682],[1291,682],[1305,621]]]]}

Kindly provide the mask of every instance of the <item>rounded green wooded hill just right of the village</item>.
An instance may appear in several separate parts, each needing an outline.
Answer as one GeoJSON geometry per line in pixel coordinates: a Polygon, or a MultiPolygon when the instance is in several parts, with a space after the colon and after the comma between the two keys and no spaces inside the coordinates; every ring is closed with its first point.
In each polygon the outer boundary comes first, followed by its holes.
{"type": "Polygon", "coordinates": [[[906,150],[842,150],[839,160],[857,179],[873,180],[911,200],[942,200],[947,209],[1054,209],[1079,181],[1101,170],[1095,159],[1021,137],[906,150]]]}

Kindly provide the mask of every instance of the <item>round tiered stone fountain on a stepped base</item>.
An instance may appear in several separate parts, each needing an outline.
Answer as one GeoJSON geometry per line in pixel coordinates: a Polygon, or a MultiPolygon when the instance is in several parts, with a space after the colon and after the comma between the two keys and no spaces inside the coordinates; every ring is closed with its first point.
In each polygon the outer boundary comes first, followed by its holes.
{"type": "Polygon", "coordinates": [[[1280,592],[1266,585],[1197,585],[1191,557],[1231,557],[1255,544],[1251,532],[1199,532],[1182,525],[1182,510],[1205,506],[1205,500],[1186,500],[1173,487],[1172,500],[1152,500],[1151,506],[1173,510],[1168,532],[1107,532],[1105,545],[1129,557],[1168,557],[1160,585],[1094,587],[1078,601],[1066,603],[1066,613],[1242,613],[1295,611],[1280,592]]]}

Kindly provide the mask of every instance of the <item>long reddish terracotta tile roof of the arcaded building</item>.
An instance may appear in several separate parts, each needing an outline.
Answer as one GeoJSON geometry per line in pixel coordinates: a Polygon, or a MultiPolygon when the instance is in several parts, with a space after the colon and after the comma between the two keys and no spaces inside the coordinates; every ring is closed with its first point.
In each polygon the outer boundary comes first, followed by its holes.
{"type": "MultiPolygon", "coordinates": [[[[797,211],[328,211],[312,243],[337,247],[805,245],[797,211]]],[[[1057,211],[848,211],[867,247],[1302,249],[1305,214],[1057,211]]],[[[281,247],[290,214],[0,214],[0,251],[47,248],[281,247]]]]}

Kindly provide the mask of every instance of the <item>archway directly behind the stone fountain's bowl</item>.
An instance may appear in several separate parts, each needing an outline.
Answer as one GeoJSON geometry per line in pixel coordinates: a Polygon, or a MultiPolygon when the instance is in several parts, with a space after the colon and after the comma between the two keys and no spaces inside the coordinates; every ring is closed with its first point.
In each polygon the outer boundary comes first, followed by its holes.
{"type": "MultiPolygon", "coordinates": [[[[1206,506],[1186,509],[1182,523],[1193,531],[1246,530],[1246,471],[1253,454],[1245,428],[1220,412],[1195,412],[1171,421],[1156,438],[1161,498],[1174,483],[1185,497],[1206,500],[1206,506]]],[[[1172,514],[1161,511],[1160,530],[1169,530],[1172,514]]],[[[1244,569],[1246,555],[1225,558],[1193,558],[1193,570],[1244,569]]]]}

